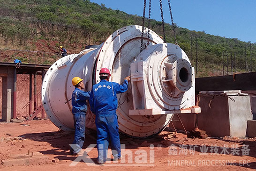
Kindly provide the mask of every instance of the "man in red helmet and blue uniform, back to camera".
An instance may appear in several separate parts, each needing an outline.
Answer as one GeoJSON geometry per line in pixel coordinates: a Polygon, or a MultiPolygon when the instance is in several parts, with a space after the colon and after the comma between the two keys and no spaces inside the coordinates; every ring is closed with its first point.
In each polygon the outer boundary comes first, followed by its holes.
{"type": "Polygon", "coordinates": [[[130,76],[126,77],[123,84],[120,85],[109,82],[111,74],[107,68],[102,68],[99,75],[101,80],[92,86],[89,102],[91,112],[96,114],[98,164],[103,165],[107,159],[109,140],[114,160],[122,158],[116,114],[116,94],[128,90],[130,76]]]}

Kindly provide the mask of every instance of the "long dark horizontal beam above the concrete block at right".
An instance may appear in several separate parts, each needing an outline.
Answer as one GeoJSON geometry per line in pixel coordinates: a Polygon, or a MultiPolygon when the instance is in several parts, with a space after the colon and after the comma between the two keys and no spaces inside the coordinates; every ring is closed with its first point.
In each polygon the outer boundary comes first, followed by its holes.
{"type": "Polygon", "coordinates": [[[256,72],[228,76],[196,78],[196,92],[222,90],[256,90],[256,72]]]}

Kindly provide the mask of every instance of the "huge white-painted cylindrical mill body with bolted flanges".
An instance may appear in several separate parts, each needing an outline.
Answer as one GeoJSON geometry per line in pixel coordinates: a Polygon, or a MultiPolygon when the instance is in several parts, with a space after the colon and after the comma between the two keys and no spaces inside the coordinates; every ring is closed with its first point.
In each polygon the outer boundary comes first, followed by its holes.
{"type": "MultiPolygon", "coordinates": [[[[45,74],[42,85],[43,105],[49,119],[62,130],[73,130],[71,80],[75,76],[82,78],[85,91],[90,91],[100,81],[102,67],[109,68],[111,81],[120,84],[131,75],[128,91],[117,94],[119,130],[124,134],[157,134],[169,124],[175,111],[194,106],[194,68],[187,55],[179,46],[164,43],[151,30],[148,38],[147,30],[142,52],[142,26],[127,26],[115,31],[97,49],[57,60],[45,74]]],[[[89,103],[86,127],[96,129],[89,103]]]]}

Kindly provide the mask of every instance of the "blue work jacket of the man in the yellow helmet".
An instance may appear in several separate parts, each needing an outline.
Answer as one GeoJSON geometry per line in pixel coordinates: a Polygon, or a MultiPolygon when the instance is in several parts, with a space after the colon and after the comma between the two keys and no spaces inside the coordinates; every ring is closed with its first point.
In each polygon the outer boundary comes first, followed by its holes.
{"type": "Polygon", "coordinates": [[[73,114],[86,114],[87,103],[86,100],[90,98],[90,92],[84,92],[79,88],[75,88],[72,93],[72,113],[73,114]]]}

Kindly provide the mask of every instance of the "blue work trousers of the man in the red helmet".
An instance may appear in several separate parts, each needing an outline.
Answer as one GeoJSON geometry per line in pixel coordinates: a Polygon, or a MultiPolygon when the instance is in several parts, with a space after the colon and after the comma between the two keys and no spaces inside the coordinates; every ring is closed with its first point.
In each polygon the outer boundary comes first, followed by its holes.
{"type": "Polygon", "coordinates": [[[117,115],[115,111],[96,115],[98,163],[105,163],[109,140],[111,141],[112,155],[121,157],[120,138],[118,132],[117,115]]]}

